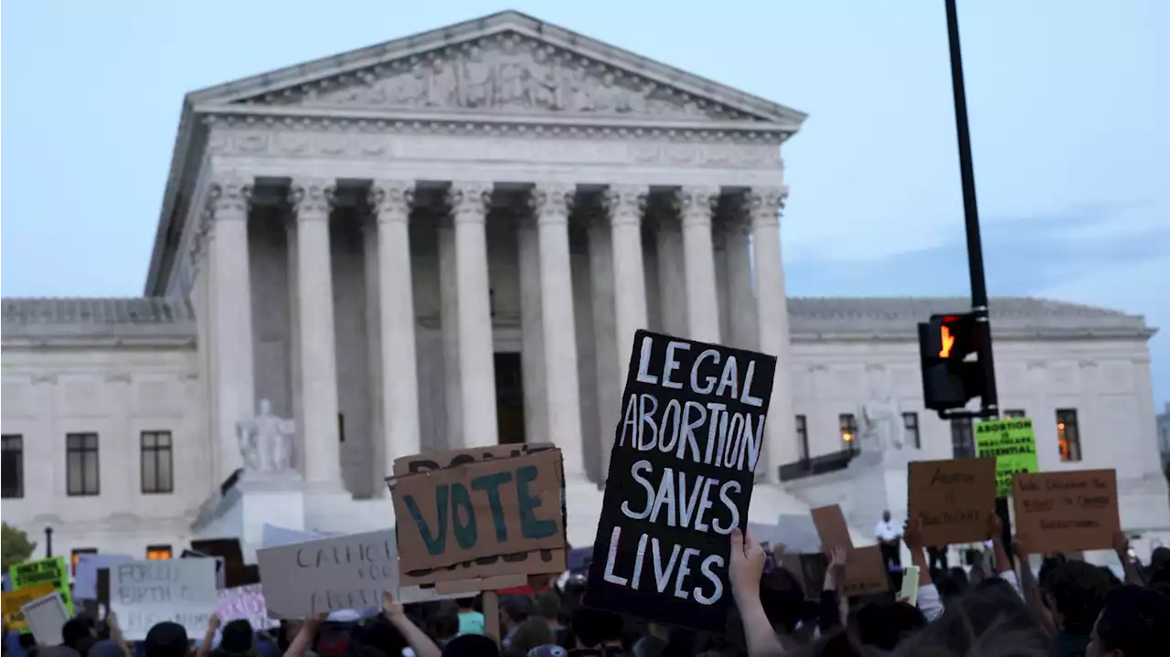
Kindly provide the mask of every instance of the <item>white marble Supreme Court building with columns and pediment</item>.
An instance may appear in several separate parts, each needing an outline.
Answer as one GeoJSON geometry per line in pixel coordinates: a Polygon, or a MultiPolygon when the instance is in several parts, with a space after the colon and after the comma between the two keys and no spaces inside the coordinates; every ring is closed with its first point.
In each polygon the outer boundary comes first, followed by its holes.
{"type": "MultiPolygon", "coordinates": [[[[826,503],[800,485],[846,466],[873,395],[909,458],[963,455],[970,424],[922,409],[915,343],[963,299],[785,293],[804,119],[515,12],[192,92],[144,296],[0,299],[0,517],[53,526],[58,553],[178,552],[232,513],[372,530],[397,457],[555,442],[587,545],[639,327],[778,357],[753,521],[826,503]],[[261,400],[296,420],[303,491],[232,511],[261,400]]],[[[1152,330],[992,313],[1041,466],[1116,468],[1127,528],[1170,528],[1152,330]]]]}

